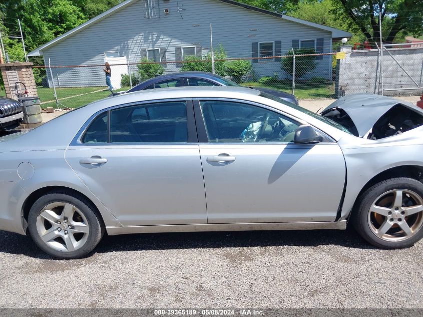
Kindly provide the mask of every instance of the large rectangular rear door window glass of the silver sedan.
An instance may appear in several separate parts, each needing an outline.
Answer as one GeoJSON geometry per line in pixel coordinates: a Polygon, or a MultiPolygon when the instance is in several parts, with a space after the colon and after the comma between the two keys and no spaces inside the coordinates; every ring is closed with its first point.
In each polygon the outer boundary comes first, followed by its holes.
{"type": "Polygon", "coordinates": [[[110,141],[188,142],[185,102],[163,102],[112,110],[110,141]]]}

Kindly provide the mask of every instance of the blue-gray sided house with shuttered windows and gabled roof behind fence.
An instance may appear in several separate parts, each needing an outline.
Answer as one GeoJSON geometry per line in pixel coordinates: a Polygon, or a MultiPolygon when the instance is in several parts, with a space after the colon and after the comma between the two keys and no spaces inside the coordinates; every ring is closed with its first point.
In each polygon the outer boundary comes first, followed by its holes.
{"type": "MultiPolygon", "coordinates": [[[[207,55],[210,24],[213,46],[221,44],[229,58],[280,56],[291,47],[329,53],[333,41],[351,37],[345,31],[232,0],[127,0],[28,56],[44,56],[45,65],[49,60],[51,65],[95,65],[113,59],[122,64],[146,57],[161,62],[166,72],[175,72],[182,65],[177,62],[186,56],[207,55]]],[[[321,56],[314,73],[330,79],[331,61],[331,56],[321,56]]],[[[280,58],[252,62],[258,78],[289,76],[281,70],[280,58]]],[[[122,69],[128,72],[125,66],[122,69]]],[[[59,76],[62,87],[105,85],[100,67],[56,70],[54,77],[59,76]]],[[[48,76],[51,83],[49,72],[48,76]]]]}

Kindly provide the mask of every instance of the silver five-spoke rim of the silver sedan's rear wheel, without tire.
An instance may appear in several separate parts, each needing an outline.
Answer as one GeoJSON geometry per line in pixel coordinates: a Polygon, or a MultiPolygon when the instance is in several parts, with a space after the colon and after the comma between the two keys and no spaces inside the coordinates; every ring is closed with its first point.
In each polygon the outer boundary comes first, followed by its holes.
{"type": "Polygon", "coordinates": [[[90,227],[85,215],[73,204],[54,202],[37,217],[37,231],[51,248],[72,252],[87,242],[90,227]]]}

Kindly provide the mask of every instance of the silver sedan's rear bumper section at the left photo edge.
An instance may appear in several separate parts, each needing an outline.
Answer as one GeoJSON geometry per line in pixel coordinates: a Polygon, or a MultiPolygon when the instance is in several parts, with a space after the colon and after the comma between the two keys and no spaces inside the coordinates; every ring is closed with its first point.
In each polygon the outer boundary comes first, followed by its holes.
{"type": "Polygon", "coordinates": [[[0,181],[0,230],[26,234],[21,203],[27,196],[18,183],[0,181]]]}

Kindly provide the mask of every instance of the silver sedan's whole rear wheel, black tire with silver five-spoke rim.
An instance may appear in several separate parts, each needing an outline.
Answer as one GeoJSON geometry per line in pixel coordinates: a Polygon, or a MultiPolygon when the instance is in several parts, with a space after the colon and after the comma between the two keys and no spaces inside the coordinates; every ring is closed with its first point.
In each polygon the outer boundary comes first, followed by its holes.
{"type": "Polygon", "coordinates": [[[34,242],[55,258],[76,259],[89,254],[105,228],[93,204],[82,195],[50,192],[31,207],[28,227],[34,242]]]}

